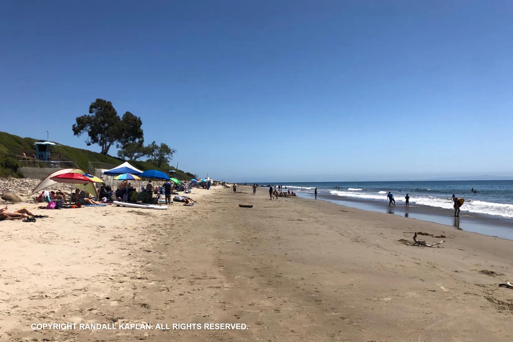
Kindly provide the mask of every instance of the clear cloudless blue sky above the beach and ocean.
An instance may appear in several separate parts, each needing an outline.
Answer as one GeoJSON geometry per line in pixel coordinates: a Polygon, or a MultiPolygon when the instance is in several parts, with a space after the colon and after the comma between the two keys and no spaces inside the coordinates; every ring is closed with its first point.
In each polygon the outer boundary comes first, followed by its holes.
{"type": "Polygon", "coordinates": [[[0,130],[87,148],[71,125],[100,97],[202,177],[513,174],[512,12],[510,1],[4,2],[0,130]]]}

